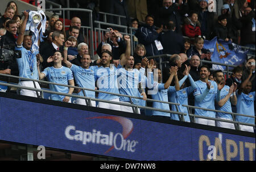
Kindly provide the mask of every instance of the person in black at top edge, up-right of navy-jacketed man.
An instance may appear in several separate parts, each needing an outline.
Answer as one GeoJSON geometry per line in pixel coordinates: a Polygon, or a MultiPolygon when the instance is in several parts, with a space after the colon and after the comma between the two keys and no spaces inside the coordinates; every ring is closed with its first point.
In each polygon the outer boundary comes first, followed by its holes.
{"type": "Polygon", "coordinates": [[[172,0],[163,0],[163,6],[159,8],[159,20],[160,24],[164,28],[168,26],[168,22],[171,20],[175,23],[175,32],[182,35],[181,31],[181,16],[178,11],[178,3],[173,3],[172,0]]]}

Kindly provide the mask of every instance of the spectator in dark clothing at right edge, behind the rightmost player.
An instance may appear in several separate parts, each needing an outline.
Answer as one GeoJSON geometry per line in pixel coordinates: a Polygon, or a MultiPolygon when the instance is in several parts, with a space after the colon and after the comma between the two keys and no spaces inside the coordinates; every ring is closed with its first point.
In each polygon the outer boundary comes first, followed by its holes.
{"type": "Polygon", "coordinates": [[[253,57],[247,59],[245,66],[243,67],[242,82],[249,78],[252,83],[251,91],[255,91],[255,59],[253,57]],[[250,71],[252,72],[251,77],[250,71]]]}

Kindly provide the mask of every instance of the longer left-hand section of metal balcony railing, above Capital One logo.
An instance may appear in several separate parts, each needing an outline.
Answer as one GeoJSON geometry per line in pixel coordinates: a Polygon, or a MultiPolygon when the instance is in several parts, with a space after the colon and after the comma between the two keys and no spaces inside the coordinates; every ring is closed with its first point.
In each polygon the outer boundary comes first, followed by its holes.
{"type": "MultiPolygon", "coordinates": [[[[85,100],[87,106],[92,106],[91,103],[90,103],[91,101],[98,101],[98,102],[106,102],[106,103],[109,103],[109,104],[117,104],[117,105],[123,105],[123,106],[130,106],[130,107],[133,108],[134,113],[137,113],[139,108],[140,108],[140,109],[147,109],[147,110],[161,111],[161,112],[165,112],[165,113],[174,113],[174,114],[180,115],[181,121],[184,121],[183,115],[187,115],[187,114],[185,114],[185,113],[180,113],[179,111],[163,110],[163,109],[157,109],[157,108],[150,108],[150,107],[147,107],[147,106],[135,105],[135,104],[133,104],[133,102],[131,101],[131,98],[136,98],[136,99],[143,100],[142,97],[135,97],[135,96],[129,96],[129,95],[125,95],[125,94],[117,94],[117,93],[111,93],[111,92],[105,92],[105,91],[98,91],[98,90],[94,90],[94,89],[76,87],[76,86],[72,86],[72,85],[65,85],[65,84],[59,84],[59,83],[51,83],[51,82],[48,82],[48,81],[35,80],[35,79],[28,79],[28,78],[23,78],[23,77],[19,77],[19,76],[13,76],[13,75],[0,74],[0,76],[11,77],[11,78],[16,78],[16,79],[21,79],[21,80],[27,80],[27,81],[33,81],[34,85],[35,85],[35,82],[38,82],[38,83],[44,83],[44,84],[54,84],[54,85],[59,85],[59,86],[64,86],[64,87],[70,87],[70,88],[81,89],[82,92],[84,93],[84,96],[77,96],[77,95],[75,95],[75,94],[67,94],[67,93],[53,92],[53,91],[48,91],[48,90],[44,90],[44,89],[31,88],[31,87],[24,87],[24,86],[15,85],[15,84],[10,84],[10,83],[0,83],[0,85],[5,85],[5,86],[7,86],[7,87],[15,87],[15,88],[20,88],[20,89],[28,89],[28,90],[31,90],[31,91],[40,92],[40,94],[42,95],[42,98],[44,98],[44,97],[43,97],[43,93],[46,92],[46,93],[51,93],[51,94],[59,94],[59,95],[61,95],[61,96],[82,98],[82,99],[85,100]],[[112,94],[112,95],[119,96],[119,97],[129,97],[131,104],[123,103],[123,102],[109,101],[109,100],[102,100],[102,99],[92,98],[92,97],[86,97],[85,90],[86,90],[86,91],[94,91],[94,92],[98,92],[98,93],[112,94]]],[[[147,98],[146,101],[150,101],[150,102],[160,102],[160,103],[164,103],[164,104],[175,105],[176,108],[177,108],[177,106],[180,105],[180,104],[176,104],[176,103],[173,103],[173,102],[159,101],[159,100],[154,100],[154,99],[150,99],[150,98],[147,98]]]]}

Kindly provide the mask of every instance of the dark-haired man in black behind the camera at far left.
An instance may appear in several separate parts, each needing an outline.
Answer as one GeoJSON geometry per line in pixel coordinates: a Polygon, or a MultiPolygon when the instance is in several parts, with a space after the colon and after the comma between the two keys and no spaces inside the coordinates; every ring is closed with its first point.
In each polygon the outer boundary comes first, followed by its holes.
{"type": "MultiPolygon", "coordinates": [[[[11,50],[11,51],[13,51],[15,49],[15,42],[18,38],[17,31],[18,31],[18,27],[17,27],[16,21],[15,20],[7,21],[6,34],[3,35],[0,40],[1,49],[7,49],[7,50],[11,50]]],[[[13,75],[19,74],[18,65],[17,65],[16,61],[13,61],[13,62],[0,61],[0,70],[8,71],[9,74],[10,74],[10,72],[12,72],[13,75]],[[6,70],[9,68],[11,70],[6,70]]]]}

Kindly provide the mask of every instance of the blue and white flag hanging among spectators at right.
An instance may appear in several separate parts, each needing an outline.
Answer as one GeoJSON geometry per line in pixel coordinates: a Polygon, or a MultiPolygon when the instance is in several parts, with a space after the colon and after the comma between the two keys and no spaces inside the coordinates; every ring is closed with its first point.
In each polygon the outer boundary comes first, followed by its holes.
{"type": "MultiPolygon", "coordinates": [[[[241,46],[231,41],[217,40],[217,37],[210,41],[204,40],[204,48],[213,53],[212,62],[225,63],[226,65],[240,65],[245,62],[248,53],[248,50],[241,50],[241,46]],[[233,49],[229,49],[229,44],[232,44],[233,49]]],[[[212,70],[226,70],[226,66],[213,65],[212,70]]]]}

